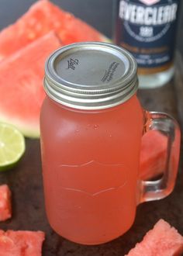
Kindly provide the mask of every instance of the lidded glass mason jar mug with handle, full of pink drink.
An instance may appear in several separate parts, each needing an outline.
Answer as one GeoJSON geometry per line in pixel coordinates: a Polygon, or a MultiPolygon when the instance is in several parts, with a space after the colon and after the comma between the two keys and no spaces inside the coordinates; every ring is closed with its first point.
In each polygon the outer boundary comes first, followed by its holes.
{"type": "Polygon", "coordinates": [[[132,226],[136,206],[168,195],[177,174],[180,131],[136,98],[136,62],[109,43],[60,48],[46,64],[47,98],[40,115],[47,216],[61,236],[102,244],[132,226]],[[167,133],[167,170],[141,181],[140,142],[146,130],[167,133]]]}

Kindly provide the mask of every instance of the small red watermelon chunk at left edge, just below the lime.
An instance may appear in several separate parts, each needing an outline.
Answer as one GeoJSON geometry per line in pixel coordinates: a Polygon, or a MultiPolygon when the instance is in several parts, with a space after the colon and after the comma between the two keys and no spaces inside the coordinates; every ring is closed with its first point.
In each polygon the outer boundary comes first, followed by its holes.
{"type": "Polygon", "coordinates": [[[0,221],[12,216],[11,191],[8,185],[0,185],[0,221]]]}

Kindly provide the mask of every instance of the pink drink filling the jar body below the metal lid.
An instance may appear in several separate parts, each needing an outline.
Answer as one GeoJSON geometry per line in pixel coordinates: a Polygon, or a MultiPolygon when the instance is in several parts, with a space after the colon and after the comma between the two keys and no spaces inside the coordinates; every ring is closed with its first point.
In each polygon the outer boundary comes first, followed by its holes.
{"type": "Polygon", "coordinates": [[[136,96],[123,107],[92,112],[45,100],[43,179],[47,216],[58,234],[100,244],[129,229],[136,212],[142,131],[136,96]]]}

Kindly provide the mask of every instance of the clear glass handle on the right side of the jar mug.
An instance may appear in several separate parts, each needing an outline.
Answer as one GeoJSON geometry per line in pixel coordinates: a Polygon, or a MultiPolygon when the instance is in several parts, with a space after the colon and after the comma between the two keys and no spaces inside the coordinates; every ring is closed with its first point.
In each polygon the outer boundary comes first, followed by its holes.
{"type": "Polygon", "coordinates": [[[140,181],[140,202],[163,199],[174,189],[178,173],[181,132],[178,123],[163,112],[144,112],[144,131],[158,130],[167,135],[167,156],[163,176],[156,181],[140,181]]]}

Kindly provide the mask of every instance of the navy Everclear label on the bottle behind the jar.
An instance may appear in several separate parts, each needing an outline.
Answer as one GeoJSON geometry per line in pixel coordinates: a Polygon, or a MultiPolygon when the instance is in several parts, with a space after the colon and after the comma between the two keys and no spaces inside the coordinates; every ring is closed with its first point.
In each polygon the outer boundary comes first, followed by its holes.
{"type": "Polygon", "coordinates": [[[136,58],[143,73],[171,66],[178,0],[120,0],[119,43],[136,58]]]}

